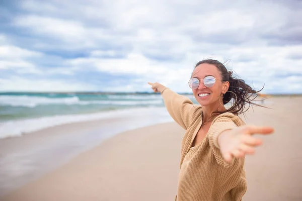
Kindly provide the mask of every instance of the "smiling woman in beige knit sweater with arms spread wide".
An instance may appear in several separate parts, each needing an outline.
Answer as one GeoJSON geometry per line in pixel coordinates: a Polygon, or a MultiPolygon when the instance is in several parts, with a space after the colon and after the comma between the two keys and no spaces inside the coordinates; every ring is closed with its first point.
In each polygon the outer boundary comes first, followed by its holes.
{"type": "MultiPolygon", "coordinates": [[[[247,190],[245,154],[262,144],[253,134],[269,134],[270,127],[246,126],[238,117],[258,92],[232,77],[217,60],[202,60],[193,70],[189,86],[200,106],[159,83],[172,118],[185,130],[181,144],[178,200],[241,200],[247,190]],[[225,104],[234,98],[234,105],[225,104]]],[[[258,106],[258,105],[257,105],[258,106]]]]}

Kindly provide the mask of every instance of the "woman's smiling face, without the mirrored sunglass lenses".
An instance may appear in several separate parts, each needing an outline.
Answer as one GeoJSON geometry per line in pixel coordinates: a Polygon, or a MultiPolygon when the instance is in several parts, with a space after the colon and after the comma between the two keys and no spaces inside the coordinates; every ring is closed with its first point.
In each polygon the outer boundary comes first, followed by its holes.
{"type": "Polygon", "coordinates": [[[202,63],[194,69],[192,78],[199,79],[198,88],[192,90],[197,102],[201,106],[209,106],[213,104],[218,104],[218,106],[221,105],[222,93],[225,93],[228,90],[230,83],[228,81],[221,81],[222,78],[216,66],[202,63]],[[216,82],[212,87],[206,87],[203,84],[203,78],[209,75],[216,78],[216,82]]]}

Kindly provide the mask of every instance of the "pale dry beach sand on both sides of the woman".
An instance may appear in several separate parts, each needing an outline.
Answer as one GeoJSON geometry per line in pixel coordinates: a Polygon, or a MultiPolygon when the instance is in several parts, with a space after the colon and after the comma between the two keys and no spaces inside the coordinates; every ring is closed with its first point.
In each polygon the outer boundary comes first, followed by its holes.
{"type": "MultiPolygon", "coordinates": [[[[300,96],[273,97],[265,100],[272,109],[254,107],[247,112],[247,124],[272,126],[275,133],[261,137],[263,146],[254,156],[246,157],[248,191],[243,200],[302,199],[300,103],[300,96]]],[[[74,129],[83,133],[108,122],[80,124],[0,140],[0,153],[26,149],[54,132],[58,136],[74,129]]],[[[122,132],[70,156],[67,162],[41,173],[0,200],[174,200],[184,132],[174,122],[122,132]]],[[[64,150],[57,154],[64,154],[64,150]]]]}

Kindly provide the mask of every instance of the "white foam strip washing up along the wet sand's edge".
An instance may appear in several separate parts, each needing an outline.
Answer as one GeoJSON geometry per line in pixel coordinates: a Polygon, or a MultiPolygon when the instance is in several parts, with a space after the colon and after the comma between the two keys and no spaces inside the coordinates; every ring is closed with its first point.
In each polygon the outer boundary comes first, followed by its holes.
{"type": "Polygon", "coordinates": [[[139,116],[161,116],[168,117],[165,108],[135,108],[86,115],[60,115],[53,117],[41,117],[26,120],[11,120],[0,123],[0,139],[22,136],[24,133],[38,131],[53,126],[101,120],[115,117],[139,117],[139,116]]]}

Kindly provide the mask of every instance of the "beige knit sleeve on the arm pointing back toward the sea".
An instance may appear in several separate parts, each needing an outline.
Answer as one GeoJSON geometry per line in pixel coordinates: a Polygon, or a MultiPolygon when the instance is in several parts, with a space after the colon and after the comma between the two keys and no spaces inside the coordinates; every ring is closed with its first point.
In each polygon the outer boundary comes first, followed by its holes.
{"type": "Polygon", "coordinates": [[[190,98],[180,95],[169,88],[162,92],[165,106],[171,117],[184,129],[187,129],[192,121],[192,116],[198,106],[194,106],[190,98]]]}

